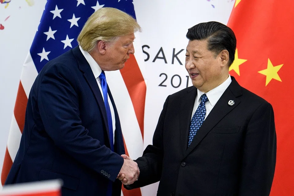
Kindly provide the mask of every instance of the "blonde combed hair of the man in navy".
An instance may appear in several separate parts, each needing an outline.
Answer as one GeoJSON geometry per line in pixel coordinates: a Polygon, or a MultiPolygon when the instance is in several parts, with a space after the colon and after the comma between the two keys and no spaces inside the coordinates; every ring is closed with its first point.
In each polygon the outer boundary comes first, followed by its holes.
{"type": "Polygon", "coordinates": [[[77,42],[84,51],[90,52],[99,40],[113,42],[119,36],[141,32],[137,21],[119,9],[104,7],[94,12],[82,28],[77,42]]]}

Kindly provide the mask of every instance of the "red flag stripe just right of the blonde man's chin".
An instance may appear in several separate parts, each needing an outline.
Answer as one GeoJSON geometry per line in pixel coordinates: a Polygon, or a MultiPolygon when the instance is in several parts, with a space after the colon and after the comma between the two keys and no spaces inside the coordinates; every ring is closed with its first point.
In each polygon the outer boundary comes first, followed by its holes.
{"type": "Polygon", "coordinates": [[[130,94],[136,117],[140,126],[142,138],[144,140],[144,111],[145,111],[145,97],[146,97],[146,84],[141,74],[134,55],[125,63],[124,69],[120,70],[126,88],[130,94]]]}

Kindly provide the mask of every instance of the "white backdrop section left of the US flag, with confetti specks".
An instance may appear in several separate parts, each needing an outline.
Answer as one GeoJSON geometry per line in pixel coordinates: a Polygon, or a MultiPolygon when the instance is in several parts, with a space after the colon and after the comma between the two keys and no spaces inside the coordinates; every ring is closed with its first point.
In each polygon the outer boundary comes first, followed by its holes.
{"type": "MultiPolygon", "coordinates": [[[[22,65],[36,34],[46,0],[28,6],[25,0],[0,4],[0,172],[20,81],[22,65]],[[5,19],[9,18],[5,21],[5,19]]],[[[0,189],[2,186],[0,186],[0,189]]]]}

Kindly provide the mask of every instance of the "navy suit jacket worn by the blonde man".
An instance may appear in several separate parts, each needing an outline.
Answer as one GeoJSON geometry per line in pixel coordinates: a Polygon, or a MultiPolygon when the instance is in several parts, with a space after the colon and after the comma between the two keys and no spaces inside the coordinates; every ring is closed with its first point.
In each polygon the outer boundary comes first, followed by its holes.
{"type": "Polygon", "coordinates": [[[20,147],[6,184],[62,179],[62,195],[121,194],[116,177],[125,153],[115,111],[115,152],[110,149],[104,101],[79,47],[48,62],[32,85],[20,147]]]}

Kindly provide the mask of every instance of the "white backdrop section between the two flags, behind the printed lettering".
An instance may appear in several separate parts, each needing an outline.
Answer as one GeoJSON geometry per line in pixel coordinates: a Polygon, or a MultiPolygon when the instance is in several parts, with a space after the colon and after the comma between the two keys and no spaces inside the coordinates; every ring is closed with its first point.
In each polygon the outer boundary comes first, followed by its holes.
{"type": "MultiPolygon", "coordinates": [[[[145,102],[144,149],[147,145],[152,144],[153,133],[167,96],[184,89],[187,85],[185,53],[188,43],[186,38],[188,28],[207,21],[227,24],[234,2],[232,0],[212,0],[210,2],[207,0],[134,0],[137,21],[143,28],[140,37],[141,45],[145,46],[143,57],[145,60],[148,59],[145,61],[148,81],[145,102]],[[161,51],[157,55],[161,47],[163,52],[161,51]],[[182,49],[184,50],[177,55],[183,64],[180,65],[173,55],[182,49]],[[163,53],[166,63],[162,59],[163,53]],[[162,74],[161,77],[160,74],[162,74]],[[167,79],[162,83],[166,78],[164,74],[167,79]],[[181,85],[178,88],[171,85],[171,79],[174,75],[179,75],[181,78],[181,85]],[[166,87],[159,86],[161,83],[166,87]]],[[[179,85],[179,77],[173,77],[174,86],[179,85]]],[[[188,86],[191,85],[189,79],[188,86]]],[[[155,196],[157,187],[158,183],[143,187],[141,189],[142,195],[155,196]]]]}

